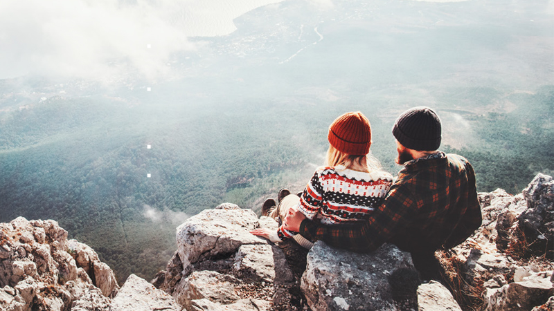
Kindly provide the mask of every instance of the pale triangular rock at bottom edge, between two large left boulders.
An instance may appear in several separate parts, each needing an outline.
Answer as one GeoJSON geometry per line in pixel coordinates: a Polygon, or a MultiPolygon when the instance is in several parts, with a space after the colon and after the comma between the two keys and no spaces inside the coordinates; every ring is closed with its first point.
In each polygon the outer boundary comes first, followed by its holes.
{"type": "Polygon", "coordinates": [[[181,306],[172,296],[154,288],[154,285],[134,274],[129,275],[116,297],[111,301],[110,311],[181,311],[181,306]]]}

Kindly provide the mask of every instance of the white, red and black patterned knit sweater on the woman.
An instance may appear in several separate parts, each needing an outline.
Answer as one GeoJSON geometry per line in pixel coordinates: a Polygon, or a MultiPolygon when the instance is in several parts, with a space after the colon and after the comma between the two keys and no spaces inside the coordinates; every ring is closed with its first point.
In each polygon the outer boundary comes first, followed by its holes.
{"type": "MultiPolygon", "coordinates": [[[[367,220],[379,207],[393,182],[384,171],[370,173],[337,167],[319,167],[307,183],[298,202],[298,210],[310,220],[325,225],[367,220]]],[[[277,235],[281,241],[294,236],[283,226],[277,235]]]]}

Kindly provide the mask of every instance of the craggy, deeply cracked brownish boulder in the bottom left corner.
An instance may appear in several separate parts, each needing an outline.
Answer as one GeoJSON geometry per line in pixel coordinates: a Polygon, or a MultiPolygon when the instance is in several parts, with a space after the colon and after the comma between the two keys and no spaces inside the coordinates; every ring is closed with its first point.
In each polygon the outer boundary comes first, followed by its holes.
{"type": "Polygon", "coordinates": [[[0,223],[0,309],[107,310],[107,297],[118,290],[114,272],[86,245],[94,260],[76,261],[78,252],[69,245],[67,232],[53,220],[0,223]]]}

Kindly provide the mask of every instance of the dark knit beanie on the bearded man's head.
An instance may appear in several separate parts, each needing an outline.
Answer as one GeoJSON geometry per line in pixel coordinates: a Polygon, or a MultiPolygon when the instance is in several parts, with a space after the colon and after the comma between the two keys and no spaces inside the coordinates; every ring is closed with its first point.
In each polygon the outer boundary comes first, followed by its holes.
{"type": "Polygon", "coordinates": [[[434,151],[440,146],[440,119],[428,107],[414,107],[396,119],[393,135],[402,146],[417,151],[434,151]]]}

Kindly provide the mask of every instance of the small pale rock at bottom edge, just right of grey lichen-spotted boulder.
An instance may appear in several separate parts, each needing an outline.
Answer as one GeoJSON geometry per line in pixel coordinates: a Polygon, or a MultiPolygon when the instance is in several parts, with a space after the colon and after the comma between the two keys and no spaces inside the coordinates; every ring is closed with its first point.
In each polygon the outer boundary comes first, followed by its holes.
{"type": "Polygon", "coordinates": [[[445,286],[430,281],[418,287],[419,311],[462,311],[445,286]]]}

